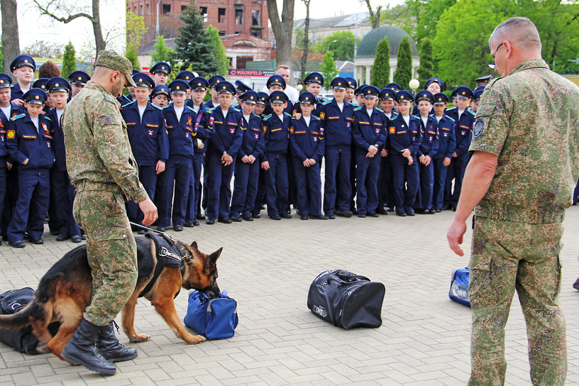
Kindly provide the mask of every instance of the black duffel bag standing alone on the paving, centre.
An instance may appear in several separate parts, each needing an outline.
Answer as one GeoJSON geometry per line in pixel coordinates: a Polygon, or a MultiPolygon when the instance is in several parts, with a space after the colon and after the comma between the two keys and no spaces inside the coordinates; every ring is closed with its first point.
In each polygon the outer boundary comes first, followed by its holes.
{"type": "Polygon", "coordinates": [[[346,270],[321,272],[309,286],[307,306],[334,326],[380,327],[385,287],[346,270]]]}

